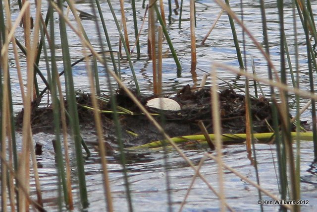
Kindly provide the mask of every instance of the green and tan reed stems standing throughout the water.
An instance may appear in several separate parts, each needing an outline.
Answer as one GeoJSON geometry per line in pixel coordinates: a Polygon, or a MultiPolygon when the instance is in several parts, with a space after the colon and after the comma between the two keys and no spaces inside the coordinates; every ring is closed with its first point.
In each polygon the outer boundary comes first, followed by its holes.
{"type": "MultiPolygon", "coordinates": [[[[225,66],[223,64],[214,64],[211,70],[212,76],[212,108],[213,108],[213,131],[214,134],[214,147],[216,156],[213,154],[205,154],[202,158],[200,164],[195,166],[193,162],[184,154],[184,152],[177,146],[177,144],[172,140],[163,130],[161,125],[153,118],[151,114],[144,108],[144,106],[135,98],[131,91],[126,87],[126,85],[120,80],[120,62],[115,60],[114,54],[117,47],[112,47],[109,39],[109,35],[106,28],[106,22],[104,20],[104,14],[100,6],[99,0],[90,0],[92,13],[95,17],[95,27],[97,29],[97,36],[99,40],[100,48],[98,51],[90,43],[88,36],[84,27],[82,26],[81,20],[78,16],[76,5],[73,0],[66,0],[66,5],[72,12],[75,17],[76,26],[69,20],[66,15],[64,2],[62,0],[49,1],[48,8],[45,17],[43,17],[43,2],[41,0],[36,1],[35,5],[35,14],[32,14],[31,18],[30,12],[30,1],[20,1],[18,0],[19,14],[14,21],[11,18],[11,8],[14,5],[10,5],[9,1],[0,2],[0,49],[1,49],[1,60],[0,60],[0,159],[1,159],[1,208],[2,211],[28,211],[31,209],[36,209],[39,211],[45,211],[45,205],[42,200],[41,192],[41,179],[39,179],[36,156],[33,148],[33,139],[31,131],[31,102],[36,98],[39,98],[44,94],[46,89],[50,91],[52,108],[53,108],[53,125],[55,133],[55,144],[56,144],[56,168],[57,168],[57,178],[58,178],[58,208],[61,211],[63,207],[72,210],[73,206],[73,197],[72,197],[72,182],[71,182],[71,172],[69,165],[69,154],[68,154],[68,142],[74,143],[75,156],[76,156],[76,170],[78,176],[78,186],[80,190],[80,202],[82,208],[87,208],[89,206],[87,188],[86,188],[86,177],[85,177],[85,168],[84,168],[84,157],[82,152],[82,147],[85,148],[86,153],[89,155],[89,149],[85,145],[81,137],[80,125],[77,113],[77,104],[76,104],[76,93],[74,86],[73,78],[73,65],[71,64],[70,57],[70,47],[68,45],[68,36],[67,28],[69,27],[73,32],[78,36],[83,52],[83,61],[86,62],[87,73],[89,76],[90,83],[90,92],[92,96],[92,103],[94,108],[94,118],[96,122],[96,132],[99,141],[100,148],[100,158],[103,170],[104,177],[104,191],[105,191],[105,202],[108,212],[112,212],[112,198],[110,183],[108,181],[108,172],[107,172],[107,163],[106,163],[106,150],[103,139],[103,128],[102,120],[100,115],[100,110],[97,103],[97,95],[101,93],[100,91],[100,81],[97,70],[97,63],[101,63],[106,70],[108,92],[111,99],[111,110],[113,111],[113,122],[116,126],[116,137],[118,141],[119,151],[120,151],[120,160],[122,164],[122,170],[124,173],[124,183],[126,188],[126,199],[128,202],[129,211],[133,211],[133,198],[131,196],[131,190],[129,186],[129,179],[126,169],[125,161],[125,148],[124,143],[121,139],[121,128],[119,124],[118,114],[116,113],[116,102],[114,96],[114,88],[111,87],[111,81],[115,80],[119,87],[121,87],[128,96],[134,101],[134,103],[140,108],[140,110],[145,114],[145,116],[154,124],[157,130],[164,136],[166,141],[171,144],[171,146],[180,154],[181,157],[188,163],[188,165],[193,169],[194,176],[191,184],[188,187],[188,191],[184,200],[181,204],[180,211],[182,210],[184,204],[186,203],[186,198],[192,188],[196,177],[200,177],[208,186],[209,189],[219,198],[219,208],[221,211],[226,209],[233,211],[232,207],[229,206],[226,202],[224,196],[224,182],[223,182],[223,169],[227,169],[237,176],[239,176],[244,181],[250,183],[259,190],[259,199],[262,199],[262,195],[267,195],[272,199],[279,199],[268,191],[265,188],[261,187],[261,179],[258,175],[257,170],[257,161],[256,161],[256,145],[255,138],[252,129],[252,120],[250,118],[250,101],[251,94],[249,92],[249,80],[254,81],[255,90],[258,92],[257,87],[269,86],[270,87],[270,96],[272,102],[272,114],[275,119],[273,119],[272,130],[275,133],[275,143],[276,143],[276,154],[278,158],[278,176],[280,182],[280,198],[289,199],[289,200],[299,200],[300,199],[300,106],[299,101],[301,98],[310,99],[311,109],[312,109],[312,123],[313,123],[313,141],[314,141],[314,152],[315,157],[317,157],[317,123],[316,123],[316,106],[315,101],[317,96],[314,94],[314,67],[317,67],[314,49],[312,48],[311,39],[315,43],[317,42],[317,33],[314,23],[314,15],[309,0],[292,0],[293,6],[293,23],[294,23],[294,43],[295,43],[295,64],[291,63],[290,54],[288,52],[288,45],[286,43],[285,33],[284,33],[284,17],[283,17],[283,1],[277,0],[277,9],[279,14],[279,24],[280,24],[280,67],[277,68],[273,66],[270,60],[269,54],[269,45],[268,45],[268,36],[267,36],[267,27],[266,27],[266,18],[265,18],[265,7],[264,1],[260,0],[260,8],[262,13],[262,22],[263,22],[263,46],[257,41],[252,33],[245,27],[243,23],[243,3],[241,1],[241,17],[239,18],[231,9],[229,5],[229,0],[215,0],[215,2],[221,7],[218,17],[219,19],[223,11],[228,14],[228,24],[232,29],[232,40],[237,53],[237,60],[239,62],[239,68],[235,69],[232,67],[225,66]],[[59,35],[56,33],[56,23],[54,22],[54,12],[58,14],[58,27],[59,35]],[[298,68],[298,58],[297,58],[297,30],[296,25],[297,19],[300,18],[302,22],[302,29],[305,31],[306,35],[306,46],[307,46],[307,58],[308,58],[308,69],[309,69],[309,79],[310,79],[310,92],[302,91],[299,89],[300,80],[299,80],[299,68],[298,68]],[[32,21],[34,21],[34,26],[32,21]],[[19,27],[20,22],[23,27],[23,42],[21,43],[18,38],[15,37],[16,29],[19,27]],[[235,28],[241,27],[243,29],[243,42],[239,43],[239,39],[236,33],[235,28]],[[32,29],[33,28],[33,29],[32,29]],[[259,49],[264,58],[267,61],[267,75],[268,79],[263,79],[257,77],[256,73],[250,73],[247,70],[247,60],[246,55],[242,55],[240,51],[240,45],[242,44],[245,48],[245,39],[246,37],[252,40],[254,45],[259,49]],[[57,64],[59,64],[58,58],[56,57],[56,40],[60,38],[61,52],[62,52],[62,72],[58,72],[57,64]],[[103,45],[103,38],[106,38],[107,49],[103,45]],[[24,43],[24,44],[23,44],[24,43]],[[105,52],[108,50],[110,57],[107,57],[105,52]],[[24,54],[24,57],[19,57],[19,51],[24,54]],[[22,128],[22,144],[21,150],[17,150],[16,142],[16,132],[14,124],[14,113],[13,113],[13,103],[12,100],[12,82],[10,79],[10,74],[12,69],[9,68],[9,52],[14,55],[14,62],[16,64],[17,76],[19,80],[19,88],[22,94],[23,102],[23,128],[22,128]],[[243,61],[244,57],[244,61],[243,61]],[[40,59],[44,60],[46,70],[39,69],[40,59]],[[287,61],[285,60],[287,58],[287,61]],[[26,67],[21,67],[21,60],[26,62],[26,67]],[[108,68],[108,64],[112,63],[113,70],[108,68]],[[94,64],[93,68],[90,63],[94,64]],[[292,84],[287,85],[288,79],[286,75],[286,64],[290,67],[290,74],[292,79],[292,84]],[[255,171],[257,174],[257,182],[252,182],[244,177],[241,173],[237,173],[232,168],[228,167],[222,161],[222,137],[220,129],[220,117],[218,113],[218,99],[217,99],[217,69],[224,68],[227,71],[236,73],[237,76],[244,76],[246,80],[246,117],[247,117],[247,152],[252,161],[254,161],[255,171]],[[278,73],[279,70],[280,72],[278,73]],[[26,78],[22,77],[22,71],[26,71],[26,78]],[[43,71],[47,72],[47,77],[44,77],[43,71]],[[64,75],[64,83],[66,89],[62,89],[61,74],[64,75]],[[38,81],[39,76],[42,81],[38,81]],[[26,87],[24,86],[26,82],[26,87]],[[45,84],[46,89],[42,92],[39,89],[39,84],[45,84]],[[296,116],[295,119],[291,120],[289,116],[288,108],[288,93],[294,93],[296,96],[296,116]],[[279,96],[279,99],[277,99],[279,96]],[[64,98],[67,100],[67,108],[64,105],[64,98]],[[280,117],[280,118],[278,118],[280,117]],[[69,124],[66,124],[66,119],[69,120],[69,124]],[[296,149],[297,151],[294,154],[293,148],[293,138],[291,136],[291,124],[294,122],[297,124],[297,139],[296,140],[296,149]],[[61,127],[60,127],[61,123],[61,127]],[[67,129],[70,129],[72,139],[68,141],[67,129]],[[61,138],[62,137],[62,138],[61,138]],[[219,179],[219,191],[216,191],[211,184],[206,180],[206,178],[199,172],[201,166],[207,158],[212,158],[218,164],[218,179],[219,179]],[[34,173],[34,180],[36,185],[36,196],[37,199],[32,199],[30,196],[30,170],[34,173]]],[[[133,68],[133,61],[131,54],[133,51],[130,49],[130,41],[127,31],[127,24],[125,18],[125,9],[124,1],[119,0],[120,9],[121,9],[121,24],[120,21],[116,18],[116,11],[111,5],[111,1],[107,0],[108,7],[111,11],[111,15],[114,19],[114,22],[117,27],[117,33],[120,37],[120,42],[124,48],[125,58],[129,63],[130,70],[132,72],[132,77],[134,79],[134,86],[137,90],[137,93],[140,94],[140,88],[138,85],[137,76],[133,68]],[[123,31],[123,32],[122,32],[123,31]]],[[[131,1],[132,12],[133,12],[133,23],[134,23],[134,35],[135,35],[135,45],[137,49],[136,60],[141,57],[139,37],[143,24],[140,28],[137,26],[137,15],[136,15],[136,6],[135,1],[131,1]],[[140,31],[138,31],[140,29],[140,31]]],[[[168,22],[171,22],[171,0],[168,0],[168,22]]],[[[178,1],[175,1],[175,5],[178,7],[178,1]]],[[[144,6],[145,8],[145,6],[144,6]]],[[[183,0],[180,2],[180,11],[179,11],[179,27],[181,27],[181,17],[182,17],[182,8],[183,0]]],[[[181,70],[181,64],[178,61],[176,51],[169,37],[167,30],[164,6],[163,1],[150,0],[147,8],[145,9],[145,14],[148,13],[148,54],[149,58],[152,60],[153,67],[153,92],[157,95],[162,93],[162,46],[164,45],[164,39],[167,42],[169,50],[174,58],[177,69],[181,70]],[[159,3],[159,6],[157,5],[159,3]],[[157,27],[157,22],[159,22],[159,27],[157,27]],[[156,33],[158,31],[158,40],[156,33]]],[[[146,15],[144,16],[146,17],[146,15]]],[[[145,21],[145,18],[144,18],[145,21]]],[[[211,26],[214,28],[216,21],[211,26]]],[[[191,63],[192,68],[196,67],[198,59],[196,57],[196,11],[195,11],[195,1],[190,0],[190,43],[191,43],[191,63]]],[[[211,30],[208,34],[211,33],[211,30]]],[[[208,37],[208,35],[207,35],[208,37]]],[[[207,37],[203,40],[203,43],[207,40],[207,37]]],[[[133,48],[132,48],[133,49],[133,48]]],[[[246,52],[245,49],[243,51],[246,52]]],[[[256,97],[258,97],[256,93],[256,97]]],[[[163,122],[163,121],[162,121],[163,122]]],[[[205,136],[206,138],[206,136],[205,136]]],[[[165,143],[165,142],[163,142],[165,143]]],[[[164,148],[165,149],[165,148],[164,148]]],[[[165,152],[166,154],[166,152],[165,152]]],[[[168,160],[165,160],[166,166],[168,165],[168,160]]],[[[166,180],[168,180],[168,169],[165,169],[166,180]]],[[[168,187],[169,184],[167,183],[168,187]]],[[[170,197],[172,194],[169,189],[166,189],[167,195],[170,197]]],[[[168,198],[169,204],[171,204],[171,198],[168,198]]],[[[261,210],[263,210],[263,207],[261,210]]],[[[289,206],[283,205],[281,207],[283,211],[291,209],[293,211],[300,211],[299,205],[289,206]]],[[[171,207],[169,210],[172,210],[171,207]]]]}

